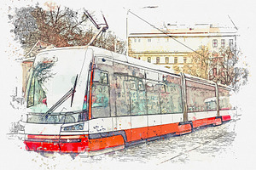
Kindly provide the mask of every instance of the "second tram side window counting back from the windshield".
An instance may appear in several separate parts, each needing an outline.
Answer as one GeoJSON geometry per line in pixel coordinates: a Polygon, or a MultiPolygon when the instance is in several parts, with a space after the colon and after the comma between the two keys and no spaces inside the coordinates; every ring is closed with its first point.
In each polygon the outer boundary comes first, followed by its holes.
{"type": "Polygon", "coordinates": [[[130,87],[128,77],[125,75],[114,75],[115,80],[115,94],[116,94],[116,115],[128,116],[130,115],[130,87]]]}

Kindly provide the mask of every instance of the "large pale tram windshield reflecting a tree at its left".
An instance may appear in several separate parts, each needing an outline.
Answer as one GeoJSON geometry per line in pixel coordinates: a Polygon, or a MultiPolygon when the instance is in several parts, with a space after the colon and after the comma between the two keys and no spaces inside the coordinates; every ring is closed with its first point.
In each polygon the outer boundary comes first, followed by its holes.
{"type": "MultiPolygon", "coordinates": [[[[44,115],[53,105],[56,105],[56,102],[74,87],[83,64],[84,50],[53,50],[38,54],[26,87],[28,112],[34,115],[44,115]]],[[[83,92],[85,93],[85,89],[83,92]]],[[[81,111],[84,98],[80,97],[78,100],[76,94],[73,94],[74,101],[72,97],[61,101],[63,103],[55,108],[52,115],[56,113],[59,115],[69,113],[70,115],[70,113],[81,111]]]]}

